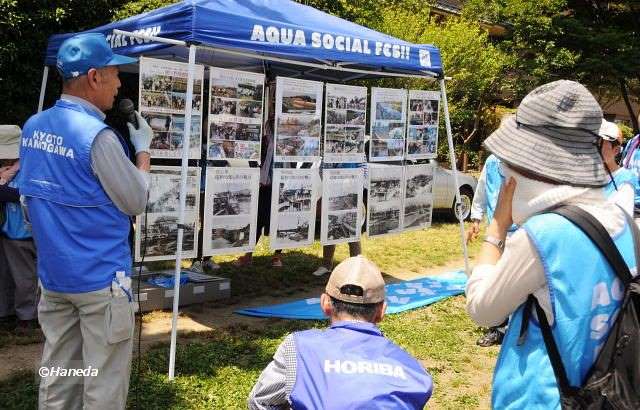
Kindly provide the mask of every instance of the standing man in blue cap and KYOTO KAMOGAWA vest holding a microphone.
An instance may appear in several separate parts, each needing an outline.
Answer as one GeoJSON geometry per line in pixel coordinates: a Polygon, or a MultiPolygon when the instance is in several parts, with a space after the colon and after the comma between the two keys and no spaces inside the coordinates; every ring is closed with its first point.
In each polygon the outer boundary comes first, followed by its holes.
{"type": "Polygon", "coordinates": [[[136,61],[113,54],[99,33],[65,40],[62,96],[23,127],[20,193],[37,245],[46,338],[41,409],[126,405],[135,324],[129,216],[145,210],[152,131],[138,113],[137,128],[127,124],[134,165],[104,111],[120,88],[118,66],[136,61]]]}

